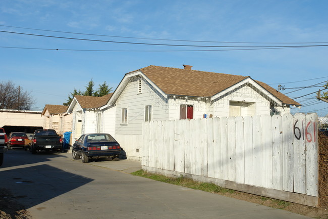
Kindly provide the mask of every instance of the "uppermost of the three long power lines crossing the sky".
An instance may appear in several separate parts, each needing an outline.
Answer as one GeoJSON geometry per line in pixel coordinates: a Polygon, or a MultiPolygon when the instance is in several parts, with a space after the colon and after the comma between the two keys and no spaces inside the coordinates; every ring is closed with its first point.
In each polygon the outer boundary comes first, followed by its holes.
{"type": "Polygon", "coordinates": [[[2,27],[12,27],[20,28],[27,30],[38,30],[38,31],[47,31],[47,32],[57,32],[57,33],[70,33],[70,34],[79,34],[79,35],[89,35],[89,36],[106,36],[106,37],[117,37],[117,38],[130,38],[130,39],[148,39],[148,40],[163,40],[163,41],[183,41],[183,42],[213,42],[213,43],[254,43],[254,44],[314,44],[314,43],[328,43],[328,42],[236,42],[236,41],[204,41],[204,40],[183,40],[183,39],[161,39],[161,38],[145,38],[145,37],[130,37],[130,36],[115,36],[115,35],[103,35],[103,34],[91,34],[91,33],[78,33],[78,32],[68,32],[68,31],[57,31],[57,30],[45,30],[45,29],[36,29],[36,28],[27,28],[27,27],[17,27],[17,26],[8,26],[0,25],[2,27]]]}

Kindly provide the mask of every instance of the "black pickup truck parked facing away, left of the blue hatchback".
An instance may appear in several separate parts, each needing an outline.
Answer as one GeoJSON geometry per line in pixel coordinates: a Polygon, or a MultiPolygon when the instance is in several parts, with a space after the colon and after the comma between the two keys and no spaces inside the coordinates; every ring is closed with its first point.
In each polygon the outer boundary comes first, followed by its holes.
{"type": "Polygon", "coordinates": [[[37,151],[62,151],[63,140],[53,129],[37,129],[32,136],[30,151],[36,154],[37,151]]]}

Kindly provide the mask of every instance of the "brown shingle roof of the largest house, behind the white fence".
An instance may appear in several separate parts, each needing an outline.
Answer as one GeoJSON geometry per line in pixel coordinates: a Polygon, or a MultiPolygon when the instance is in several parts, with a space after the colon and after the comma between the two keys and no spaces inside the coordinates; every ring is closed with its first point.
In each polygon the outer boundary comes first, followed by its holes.
{"type": "MultiPolygon", "coordinates": [[[[195,97],[211,97],[249,77],[153,65],[139,70],[166,94],[195,97]]],[[[256,82],[283,103],[300,105],[269,85],[256,82]]]]}

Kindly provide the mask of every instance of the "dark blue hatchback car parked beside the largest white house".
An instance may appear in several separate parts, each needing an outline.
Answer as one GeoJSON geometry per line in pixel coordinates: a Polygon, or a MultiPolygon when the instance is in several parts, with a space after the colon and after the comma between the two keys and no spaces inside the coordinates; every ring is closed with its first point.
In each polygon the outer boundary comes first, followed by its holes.
{"type": "Polygon", "coordinates": [[[120,144],[106,133],[84,134],[75,143],[72,148],[73,159],[80,159],[82,162],[89,162],[90,158],[109,158],[119,160],[121,153],[120,144]]]}

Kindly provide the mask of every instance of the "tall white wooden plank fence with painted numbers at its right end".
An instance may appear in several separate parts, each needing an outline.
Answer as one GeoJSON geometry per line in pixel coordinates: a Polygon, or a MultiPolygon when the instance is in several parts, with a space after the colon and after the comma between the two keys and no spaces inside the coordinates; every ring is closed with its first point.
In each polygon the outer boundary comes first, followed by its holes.
{"type": "Polygon", "coordinates": [[[318,197],[317,138],[315,113],[151,121],[142,166],[318,197]]]}

